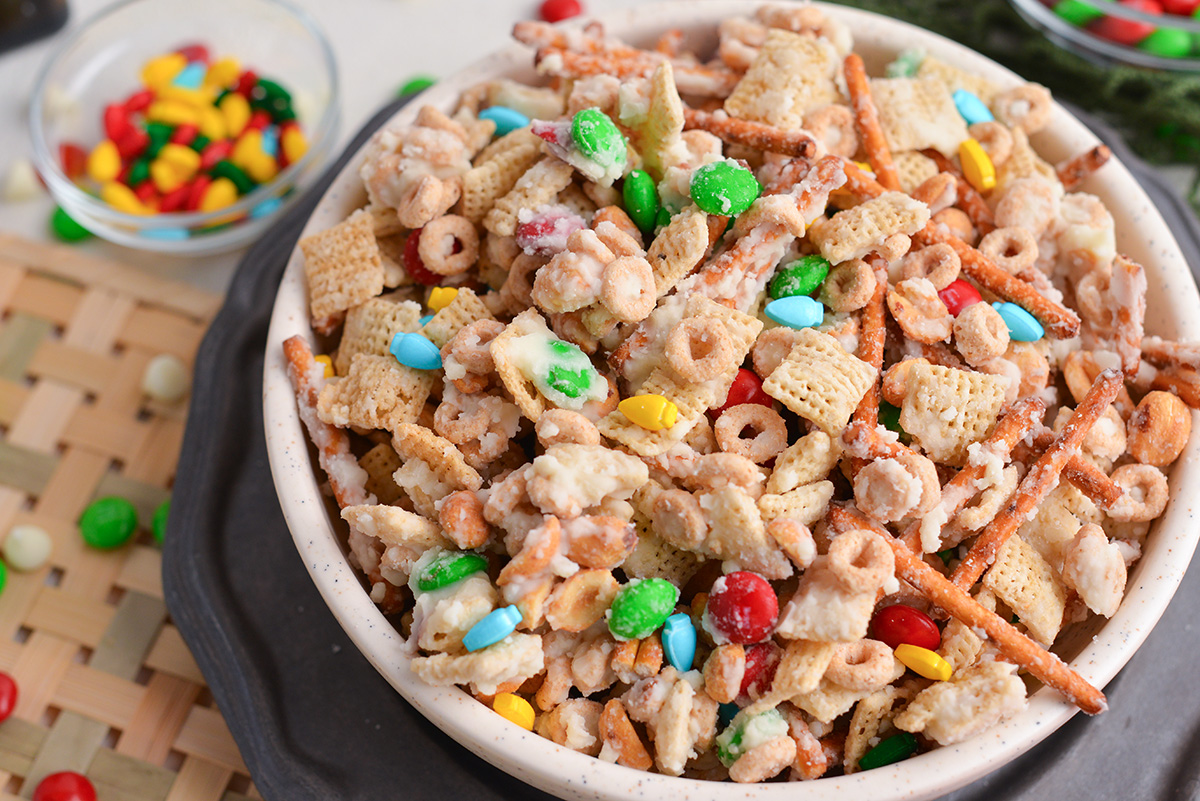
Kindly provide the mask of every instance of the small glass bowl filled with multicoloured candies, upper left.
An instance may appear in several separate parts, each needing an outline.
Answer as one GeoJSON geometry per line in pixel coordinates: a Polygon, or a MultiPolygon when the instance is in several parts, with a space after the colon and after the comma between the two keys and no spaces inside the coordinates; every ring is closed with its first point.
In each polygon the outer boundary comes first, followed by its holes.
{"type": "Polygon", "coordinates": [[[30,101],[55,229],[174,255],[256,240],[337,126],[332,48],[278,0],[112,6],[47,60],[30,101]]]}

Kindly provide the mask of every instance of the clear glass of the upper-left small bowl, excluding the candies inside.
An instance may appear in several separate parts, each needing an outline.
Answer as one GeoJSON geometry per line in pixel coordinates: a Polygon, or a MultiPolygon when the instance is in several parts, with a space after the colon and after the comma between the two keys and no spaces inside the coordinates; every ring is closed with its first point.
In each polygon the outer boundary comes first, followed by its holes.
{"type": "Polygon", "coordinates": [[[34,85],[34,159],[54,199],[94,234],[118,245],[204,255],[257,239],[316,177],[337,137],[337,65],[317,23],[281,0],[126,0],[83,25],[46,62],[34,85]],[[72,182],[59,145],[90,150],[103,137],[107,103],[140,89],[142,65],[188,43],[280,80],[308,139],[302,158],[233,205],[211,212],[139,217],[113,209],[72,182]]]}

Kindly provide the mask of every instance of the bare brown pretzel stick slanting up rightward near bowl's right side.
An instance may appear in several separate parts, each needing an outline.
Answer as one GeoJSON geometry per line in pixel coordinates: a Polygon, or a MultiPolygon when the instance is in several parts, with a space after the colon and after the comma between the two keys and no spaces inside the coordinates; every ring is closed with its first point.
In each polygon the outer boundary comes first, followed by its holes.
{"type": "Polygon", "coordinates": [[[950,577],[950,580],[959,588],[970,589],[979,580],[983,572],[996,561],[996,554],[1004,547],[1008,538],[1025,520],[1030,519],[1037,505],[1058,483],[1058,475],[1072,457],[1079,454],[1079,447],[1084,444],[1087,433],[1104,414],[1104,410],[1109,408],[1112,399],[1117,397],[1117,390],[1122,386],[1124,386],[1124,381],[1121,373],[1115,369],[1106,369],[1096,377],[1096,383],[1092,384],[1092,389],[1088,390],[1082,402],[1075,406],[1075,414],[1067,421],[1062,433],[1025,474],[1025,478],[1016,488],[1016,494],[988,524],[983,534],[976,537],[971,550],[950,577]]]}

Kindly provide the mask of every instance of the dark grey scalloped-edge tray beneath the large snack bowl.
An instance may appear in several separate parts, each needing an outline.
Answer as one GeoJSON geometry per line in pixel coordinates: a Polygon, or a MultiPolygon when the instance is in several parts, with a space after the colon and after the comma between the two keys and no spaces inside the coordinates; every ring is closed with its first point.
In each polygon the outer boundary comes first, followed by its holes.
{"type": "MultiPolygon", "coordinates": [[[[263,439],[263,345],[288,255],[347,155],[242,260],[200,345],[163,559],[167,603],[268,801],[547,799],[425,721],[325,608],[292,544],[263,439]]],[[[1105,126],[1080,114],[1139,176],[1189,257],[1200,225],[1105,126]]],[[[1190,799],[1200,791],[1200,670],[1192,620],[1200,576],[1106,688],[1028,754],[952,794],[1007,799],[1190,799]]]]}

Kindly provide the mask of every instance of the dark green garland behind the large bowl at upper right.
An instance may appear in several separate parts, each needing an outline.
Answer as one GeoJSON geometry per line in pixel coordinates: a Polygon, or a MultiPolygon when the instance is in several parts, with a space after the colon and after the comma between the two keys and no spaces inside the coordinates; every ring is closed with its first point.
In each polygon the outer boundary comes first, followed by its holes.
{"type": "MultiPolygon", "coordinates": [[[[1200,74],[1100,66],[1064,50],[1003,0],[834,0],[913,22],[1003,64],[1114,125],[1146,161],[1200,164],[1200,74]]],[[[1189,200],[1200,212],[1200,179],[1189,200]]]]}

